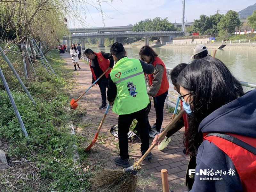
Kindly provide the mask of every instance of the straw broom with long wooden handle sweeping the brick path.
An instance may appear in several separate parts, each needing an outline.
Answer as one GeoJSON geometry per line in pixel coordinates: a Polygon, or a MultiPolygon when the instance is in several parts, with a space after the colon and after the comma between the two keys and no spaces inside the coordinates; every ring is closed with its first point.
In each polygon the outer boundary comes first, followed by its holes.
{"type": "MultiPolygon", "coordinates": [[[[168,124],[164,131],[159,135],[158,140],[164,137],[165,133],[172,131],[171,134],[179,131],[179,128],[174,127],[180,117],[185,113],[182,109],[180,113],[168,124]]],[[[139,161],[135,162],[132,166],[122,170],[111,170],[104,169],[94,178],[91,179],[95,188],[100,188],[101,191],[111,192],[135,192],[137,183],[137,172],[141,169],[141,163],[146,156],[153,150],[156,144],[152,144],[147,152],[140,158],[139,161]]]]}

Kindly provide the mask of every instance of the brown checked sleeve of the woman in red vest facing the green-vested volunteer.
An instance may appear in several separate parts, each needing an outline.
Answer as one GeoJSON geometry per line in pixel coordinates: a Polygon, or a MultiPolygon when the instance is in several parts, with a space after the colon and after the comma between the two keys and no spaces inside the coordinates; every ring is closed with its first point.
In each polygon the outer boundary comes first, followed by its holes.
{"type": "Polygon", "coordinates": [[[148,95],[154,97],[160,89],[164,74],[164,66],[156,64],[156,68],[153,74],[152,85],[148,90],[148,95]]]}

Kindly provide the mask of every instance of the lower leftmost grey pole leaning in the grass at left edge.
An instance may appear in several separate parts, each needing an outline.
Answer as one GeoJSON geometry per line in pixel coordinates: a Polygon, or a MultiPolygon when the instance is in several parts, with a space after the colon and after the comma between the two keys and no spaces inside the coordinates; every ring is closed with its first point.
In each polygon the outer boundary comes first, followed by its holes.
{"type": "Polygon", "coordinates": [[[27,130],[26,130],[26,128],[25,128],[25,126],[24,126],[24,124],[23,124],[23,121],[22,121],[22,119],[21,119],[21,117],[20,117],[20,113],[19,113],[19,111],[18,111],[18,109],[17,109],[17,106],[16,106],[14,100],[13,100],[11,91],[10,91],[10,89],[9,89],[9,87],[8,87],[8,84],[7,84],[6,80],[5,80],[5,78],[4,78],[4,74],[3,74],[3,71],[2,71],[2,69],[1,69],[1,67],[0,67],[0,76],[1,76],[1,79],[2,79],[2,81],[3,81],[4,88],[5,88],[6,92],[7,92],[7,95],[8,95],[8,97],[9,97],[10,101],[11,101],[12,108],[13,108],[13,110],[14,110],[14,112],[15,112],[15,115],[16,115],[17,118],[18,118],[20,127],[21,127],[23,133],[25,134],[25,137],[28,138],[27,130]]]}

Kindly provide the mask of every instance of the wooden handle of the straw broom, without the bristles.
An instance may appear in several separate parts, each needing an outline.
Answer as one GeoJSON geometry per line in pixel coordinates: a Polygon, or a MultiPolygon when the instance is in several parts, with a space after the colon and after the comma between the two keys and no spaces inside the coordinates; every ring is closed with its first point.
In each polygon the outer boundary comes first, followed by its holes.
{"type": "MultiPolygon", "coordinates": [[[[181,118],[181,116],[182,116],[184,113],[185,113],[185,110],[182,109],[182,110],[180,111],[180,113],[172,120],[172,122],[169,123],[169,124],[165,127],[164,131],[159,135],[158,140],[161,140],[161,138],[165,136],[165,133],[167,133],[167,132],[170,131],[171,129],[174,129],[174,128],[175,128],[175,127],[173,127],[173,125],[175,125],[175,124],[177,123],[177,121],[181,118]]],[[[138,162],[135,162],[135,163],[134,163],[134,166],[141,164],[142,161],[145,159],[145,157],[148,156],[148,154],[152,151],[152,149],[153,149],[155,146],[156,146],[156,144],[151,145],[151,146],[148,148],[148,150],[146,151],[146,153],[140,158],[140,160],[139,160],[138,162]]]]}

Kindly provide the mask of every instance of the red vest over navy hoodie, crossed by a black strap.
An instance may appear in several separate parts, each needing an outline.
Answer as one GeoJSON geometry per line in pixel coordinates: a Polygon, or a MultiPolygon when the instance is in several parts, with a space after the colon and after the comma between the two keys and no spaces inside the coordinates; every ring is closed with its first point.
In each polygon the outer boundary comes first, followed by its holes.
{"type": "MultiPolygon", "coordinates": [[[[240,139],[247,144],[256,148],[256,139],[236,134],[227,133],[240,139]]],[[[207,133],[203,133],[204,140],[213,142],[218,148],[220,148],[224,153],[226,153],[233,161],[236,171],[239,174],[243,191],[254,192],[256,183],[256,155],[250,151],[236,145],[233,142],[222,139],[216,136],[208,136],[207,133]],[[206,137],[206,138],[205,138],[206,137]]],[[[222,162],[223,163],[223,162],[222,162]]],[[[232,176],[230,176],[232,177],[232,176]]]]}

